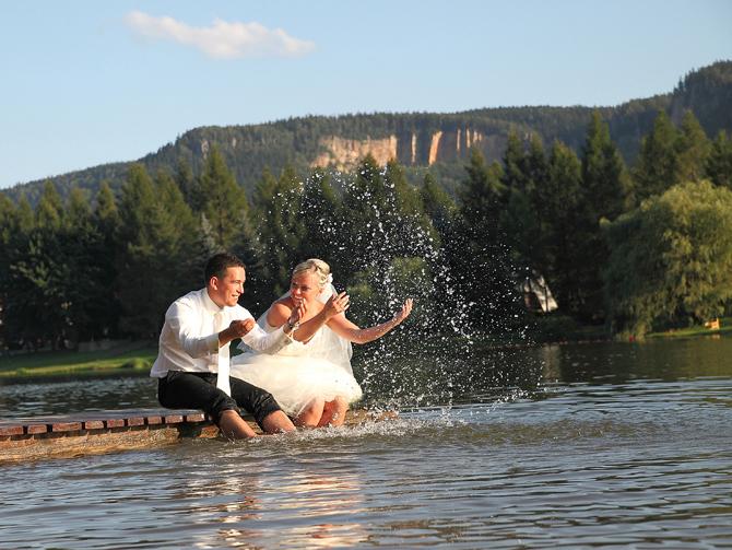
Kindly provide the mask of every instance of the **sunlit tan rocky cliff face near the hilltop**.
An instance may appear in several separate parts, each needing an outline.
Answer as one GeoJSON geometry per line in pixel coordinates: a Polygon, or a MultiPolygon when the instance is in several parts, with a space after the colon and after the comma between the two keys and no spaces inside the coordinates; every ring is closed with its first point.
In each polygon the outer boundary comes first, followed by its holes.
{"type": "MultiPolygon", "coordinates": [[[[470,148],[493,145],[491,139],[471,128],[437,130],[432,133],[415,132],[403,136],[391,134],[387,138],[366,138],[364,140],[346,139],[339,136],[327,136],[319,140],[322,151],[310,163],[311,167],[331,166],[338,169],[353,168],[358,162],[370,154],[380,165],[392,159],[409,166],[427,165],[436,162],[464,159],[470,148]]],[[[503,140],[501,140],[503,141],[503,140]]]]}

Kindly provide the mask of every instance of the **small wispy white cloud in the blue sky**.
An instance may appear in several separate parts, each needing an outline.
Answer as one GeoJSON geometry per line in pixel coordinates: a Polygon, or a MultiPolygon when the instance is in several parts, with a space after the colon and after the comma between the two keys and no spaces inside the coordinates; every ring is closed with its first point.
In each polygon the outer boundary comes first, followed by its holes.
{"type": "Polygon", "coordinates": [[[217,19],[211,26],[194,27],[173,17],[154,17],[141,11],[128,13],[125,21],[142,36],[193,46],[220,59],[295,57],[315,48],[312,42],[294,38],[282,28],[269,30],[256,22],[227,23],[217,19]]]}

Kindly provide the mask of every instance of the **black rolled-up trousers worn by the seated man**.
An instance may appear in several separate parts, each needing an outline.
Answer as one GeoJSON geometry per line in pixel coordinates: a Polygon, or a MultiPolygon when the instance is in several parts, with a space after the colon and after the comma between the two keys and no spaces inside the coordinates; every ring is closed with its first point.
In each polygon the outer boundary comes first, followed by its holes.
{"type": "Polygon", "coordinates": [[[239,378],[229,378],[232,397],[227,396],[216,387],[216,377],[215,373],[168,371],[157,383],[157,400],[168,409],[201,409],[216,423],[222,412],[238,412],[240,407],[262,426],[262,420],[280,410],[270,393],[239,378]]]}

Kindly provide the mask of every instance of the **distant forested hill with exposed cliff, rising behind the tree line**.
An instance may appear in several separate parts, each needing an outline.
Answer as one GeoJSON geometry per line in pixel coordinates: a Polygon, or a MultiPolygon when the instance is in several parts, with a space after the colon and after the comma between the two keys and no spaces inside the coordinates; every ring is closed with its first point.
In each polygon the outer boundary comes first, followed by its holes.
{"type": "MultiPolygon", "coordinates": [[[[611,137],[626,162],[635,159],[640,139],[650,131],[659,110],[678,124],[686,109],[693,110],[708,137],[713,138],[719,130],[732,133],[732,61],[688,73],[673,92],[597,108],[610,124],[611,137]]],[[[304,174],[314,166],[349,169],[370,152],[381,163],[398,159],[411,175],[429,169],[450,188],[462,177],[471,147],[477,147],[488,160],[499,159],[511,129],[520,136],[536,133],[546,144],[558,139],[579,150],[593,110],[582,106],[526,106],[452,114],[310,116],[262,125],[202,127],[139,162],[151,173],[158,168],[176,173],[187,164],[198,174],[206,152],[215,145],[237,182],[251,191],[265,167],[275,175],[286,165],[304,174]]],[[[74,186],[91,190],[93,196],[105,179],[117,189],[130,164],[105,164],[51,179],[62,196],[74,186]]],[[[25,194],[34,204],[44,182],[16,185],[4,192],[13,199],[25,194]]]]}

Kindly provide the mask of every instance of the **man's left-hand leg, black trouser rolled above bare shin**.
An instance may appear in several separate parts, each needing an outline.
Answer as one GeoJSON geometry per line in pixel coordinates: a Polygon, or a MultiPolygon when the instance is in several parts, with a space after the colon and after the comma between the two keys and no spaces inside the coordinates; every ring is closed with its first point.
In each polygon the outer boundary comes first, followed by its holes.
{"type": "Polygon", "coordinates": [[[168,371],[160,379],[157,399],[168,409],[203,410],[228,438],[257,435],[239,416],[236,401],[216,388],[214,374],[168,371]]]}

